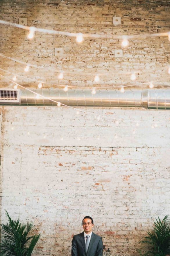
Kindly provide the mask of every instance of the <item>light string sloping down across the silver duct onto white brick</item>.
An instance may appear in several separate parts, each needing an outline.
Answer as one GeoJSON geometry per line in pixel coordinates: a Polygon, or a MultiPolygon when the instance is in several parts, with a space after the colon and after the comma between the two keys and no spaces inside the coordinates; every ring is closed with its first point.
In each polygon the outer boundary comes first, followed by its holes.
{"type": "MultiPolygon", "coordinates": [[[[81,110],[81,109],[79,109],[79,107],[75,108],[75,107],[71,107],[71,106],[69,106],[69,105],[60,103],[60,101],[55,101],[55,100],[53,100],[53,99],[51,99],[51,98],[49,98],[49,97],[45,97],[45,96],[43,96],[43,95],[41,95],[41,94],[38,94],[38,93],[36,93],[35,91],[33,91],[33,90],[29,89],[29,88],[26,88],[26,87],[22,86],[21,84],[18,84],[18,83],[16,83],[15,81],[12,81],[12,80],[9,79],[8,77],[5,77],[5,76],[3,76],[3,75],[1,75],[1,74],[0,74],[0,76],[3,77],[3,78],[5,78],[5,79],[7,79],[7,80],[10,81],[10,82],[12,82],[12,83],[15,84],[17,87],[19,86],[19,87],[21,87],[21,88],[23,88],[23,89],[25,89],[25,90],[27,90],[27,91],[32,92],[32,93],[35,94],[36,96],[39,96],[39,97],[41,97],[41,98],[48,99],[49,101],[52,101],[52,102],[54,102],[54,103],[57,103],[57,106],[58,106],[58,107],[62,105],[62,106],[65,106],[65,107],[68,107],[68,108],[71,108],[71,109],[76,110],[76,111],[77,111],[76,114],[79,114],[79,112],[82,112],[82,113],[87,113],[87,114],[93,115],[93,116],[96,117],[96,119],[97,119],[98,121],[100,121],[101,118],[107,120],[107,116],[106,116],[106,115],[95,114],[95,113],[92,113],[92,112],[90,112],[90,111],[81,110]]],[[[112,114],[112,113],[111,113],[111,114],[112,114]]],[[[109,118],[110,118],[110,117],[109,117],[109,118]]],[[[122,120],[122,119],[119,119],[119,118],[113,118],[114,123],[116,123],[117,125],[119,124],[119,122],[123,122],[123,121],[127,121],[127,120],[129,120],[129,119],[124,119],[124,120],[122,120]]],[[[169,120],[170,120],[170,119],[169,119],[169,120]]],[[[159,121],[161,121],[161,120],[159,120],[159,121]]],[[[138,121],[137,121],[137,120],[131,120],[131,122],[135,122],[135,124],[136,124],[136,129],[137,129],[137,127],[139,126],[139,123],[144,123],[144,122],[148,122],[148,121],[147,121],[147,120],[138,120],[138,121]]],[[[154,122],[153,122],[153,123],[154,123],[154,122]]],[[[165,121],[165,123],[170,123],[170,121],[165,121]]],[[[154,127],[157,127],[157,125],[155,126],[155,123],[152,125],[152,128],[154,128],[154,127]]]]}

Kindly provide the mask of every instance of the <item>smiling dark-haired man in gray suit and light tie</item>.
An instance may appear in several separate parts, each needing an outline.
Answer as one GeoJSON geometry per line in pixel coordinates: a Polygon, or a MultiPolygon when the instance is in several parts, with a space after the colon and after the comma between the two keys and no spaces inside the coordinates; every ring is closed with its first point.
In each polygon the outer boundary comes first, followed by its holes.
{"type": "Polygon", "coordinates": [[[84,232],[73,237],[71,256],[102,256],[102,238],[92,232],[94,226],[92,217],[85,216],[82,224],[84,232]]]}

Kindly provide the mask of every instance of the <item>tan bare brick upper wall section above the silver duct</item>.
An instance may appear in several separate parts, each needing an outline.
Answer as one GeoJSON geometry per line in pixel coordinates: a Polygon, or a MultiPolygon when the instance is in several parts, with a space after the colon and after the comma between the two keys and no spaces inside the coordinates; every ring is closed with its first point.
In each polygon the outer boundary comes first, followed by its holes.
{"type": "MultiPolygon", "coordinates": [[[[2,1],[0,18],[18,23],[26,17],[28,26],[68,32],[99,33],[108,35],[134,35],[169,31],[169,1],[2,1]],[[113,26],[112,17],[120,16],[121,25],[113,26]]],[[[74,37],[36,32],[33,40],[27,31],[0,25],[1,52],[34,65],[49,68],[31,68],[24,74],[24,65],[1,58],[3,69],[16,72],[17,82],[37,86],[37,79],[55,84],[92,87],[94,76],[100,75],[98,86],[132,85],[131,72],[136,72],[135,85],[146,87],[154,81],[158,87],[169,83],[167,77],[169,41],[167,37],[134,38],[127,48],[120,39],[87,38],[76,44],[74,37]],[[62,48],[63,56],[54,56],[54,49],[62,48]],[[123,49],[123,58],[115,58],[114,50],[123,49]],[[58,74],[64,71],[63,81],[58,74]],[[29,79],[30,80],[29,80],[29,79]]],[[[1,71],[2,72],[2,71],[1,71]]],[[[8,73],[3,73],[11,77],[8,73]]],[[[9,86],[1,79],[0,85],[9,86]]],[[[53,84],[53,85],[51,85],[53,84]]]]}

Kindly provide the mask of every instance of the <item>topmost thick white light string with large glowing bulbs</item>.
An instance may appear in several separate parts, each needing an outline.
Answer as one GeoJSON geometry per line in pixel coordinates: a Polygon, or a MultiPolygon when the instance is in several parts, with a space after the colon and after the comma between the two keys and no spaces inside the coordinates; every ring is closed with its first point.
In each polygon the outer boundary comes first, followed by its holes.
{"type": "Polygon", "coordinates": [[[64,36],[69,36],[69,37],[80,37],[82,36],[83,38],[85,37],[91,37],[91,38],[115,38],[115,39],[132,39],[132,38],[146,38],[146,37],[164,37],[168,36],[170,37],[170,31],[168,32],[162,32],[162,33],[144,33],[144,34],[138,34],[138,35],[110,35],[110,34],[82,34],[82,33],[70,33],[70,32],[64,32],[64,31],[59,31],[59,30],[49,30],[49,29],[42,29],[42,28],[37,28],[37,27],[29,27],[29,26],[24,26],[20,25],[17,23],[12,23],[8,22],[5,20],[0,20],[0,24],[4,25],[9,25],[12,27],[18,27],[24,30],[29,30],[32,33],[35,31],[41,32],[41,33],[48,33],[48,34],[57,34],[57,35],[64,35],[64,36]]]}

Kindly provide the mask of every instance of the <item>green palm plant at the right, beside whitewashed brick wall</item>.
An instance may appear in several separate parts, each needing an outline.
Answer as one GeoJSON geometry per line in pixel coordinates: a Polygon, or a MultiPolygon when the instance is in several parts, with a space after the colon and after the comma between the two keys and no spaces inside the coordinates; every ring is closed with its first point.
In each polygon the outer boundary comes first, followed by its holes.
{"type": "MultiPolygon", "coordinates": [[[[150,247],[144,255],[168,256],[170,255],[170,218],[166,215],[161,221],[160,218],[154,222],[153,231],[148,232],[141,243],[147,243],[150,247]]],[[[141,251],[139,251],[142,255],[141,251]]]]}

